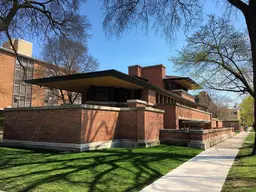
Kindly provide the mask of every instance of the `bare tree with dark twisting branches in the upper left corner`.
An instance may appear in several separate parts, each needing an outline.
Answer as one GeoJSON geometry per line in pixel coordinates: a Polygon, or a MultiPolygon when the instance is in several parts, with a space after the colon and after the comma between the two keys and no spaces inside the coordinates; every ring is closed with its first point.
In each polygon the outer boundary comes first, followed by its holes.
{"type": "Polygon", "coordinates": [[[69,39],[82,39],[86,37],[90,24],[78,12],[81,2],[85,1],[1,0],[0,40],[7,37],[17,55],[12,43],[15,36],[49,38],[61,35],[69,39]]]}

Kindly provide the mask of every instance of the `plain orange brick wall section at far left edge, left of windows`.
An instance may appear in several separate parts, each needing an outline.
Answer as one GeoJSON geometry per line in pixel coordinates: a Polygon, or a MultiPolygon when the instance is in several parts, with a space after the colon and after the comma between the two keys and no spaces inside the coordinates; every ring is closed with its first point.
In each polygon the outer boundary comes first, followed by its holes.
{"type": "Polygon", "coordinates": [[[15,61],[12,54],[0,52],[0,108],[12,106],[15,61]]]}

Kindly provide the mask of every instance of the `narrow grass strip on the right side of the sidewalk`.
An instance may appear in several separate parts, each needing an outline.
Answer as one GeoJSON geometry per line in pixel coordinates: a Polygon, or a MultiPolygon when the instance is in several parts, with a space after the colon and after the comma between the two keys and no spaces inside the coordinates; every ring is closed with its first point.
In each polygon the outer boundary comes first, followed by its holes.
{"type": "Polygon", "coordinates": [[[228,177],[222,188],[223,192],[256,191],[256,156],[250,156],[253,141],[254,132],[251,132],[229,170],[228,177]]]}

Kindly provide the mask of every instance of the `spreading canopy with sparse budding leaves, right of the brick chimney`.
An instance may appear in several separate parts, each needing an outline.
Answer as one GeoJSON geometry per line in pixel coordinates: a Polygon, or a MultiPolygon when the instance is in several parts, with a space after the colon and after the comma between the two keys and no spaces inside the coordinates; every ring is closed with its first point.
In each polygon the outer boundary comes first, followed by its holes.
{"type": "Polygon", "coordinates": [[[192,75],[207,88],[253,96],[249,43],[245,32],[211,15],[170,60],[177,71],[192,75]]]}

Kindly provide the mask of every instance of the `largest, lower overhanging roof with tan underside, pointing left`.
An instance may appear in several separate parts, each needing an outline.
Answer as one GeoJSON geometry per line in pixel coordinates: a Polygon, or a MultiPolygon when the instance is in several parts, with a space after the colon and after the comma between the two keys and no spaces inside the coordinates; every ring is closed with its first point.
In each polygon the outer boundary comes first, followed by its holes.
{"type": "Polygon", "coordinates": [[[63,89],[72,92],[83,93],[89,86],[123,87],[127,89],[148,88],[158,93],[170,96],[176,100],[197,106],[196,103],[184,99],[170,91],[156,87],[139,78],[129,76],[120,71],[111,69],[90,73],[79,73],[73,75],[55,76],[40,79],[25,80],[26,83],[63,89]]]}

